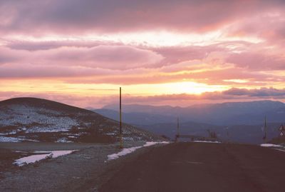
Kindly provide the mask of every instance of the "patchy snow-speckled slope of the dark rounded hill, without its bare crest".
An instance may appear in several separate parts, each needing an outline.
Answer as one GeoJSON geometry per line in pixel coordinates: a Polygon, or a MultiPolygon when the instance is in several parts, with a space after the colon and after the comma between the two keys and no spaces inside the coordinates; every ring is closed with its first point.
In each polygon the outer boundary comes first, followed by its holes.
{"type": "MultiPolygon", "coordinates": [[[[95,115],[95,114],[93,114],[95,115]]],[[[88,121],[86,122],[85,116],[89,118],[90,113],[66,113],[60,109],[48,109],[47,106],[33,106],[29,104],[10,104],[8,106],[0,106],[0,136],[6,136],[7,138],[0,138],[0,142],[21,142],[26,141],[27,138],[36,138],[35,136],[47,136],[48,139],[56,140],[56,142],[67,143],[76,141],[80,136],[77,132],[83,132],[86,128],[95,127],[94,124],[97,122],[88,121]],[[83,131],[76,130],[83,129],[83,131]],[[76,130],[76,134],[68,135],[69,132],[76,130]],[[66,133],[66,137],[59,137],[66,133]],[[20,136],[26,134],[27,138],[21,140],[20,136]],[[40,134],[45,133],[45,134],[40,134]],[[56,136],[51,138],[51,133],[56,136]],[[8,138],[8,137],[11,138],[8,138]],[[18,138],[16,138],[18,137],[18,138]],[[70,141],[71,140],[71,141],[70,141]]],[[[102,118],[103,120],[103,118],[102,118]]],[[[102,121],[97,126],[100,134],[105,134],[111,137],[118,137],[118,125],[113,120],[102,121]],[[106,128],[110,121],[110,127],[106,128]]],[[[154,140],[150,133],[140,131],[133,126],[124,126],[123,128],[124,141],[143,141],[143,140],[154,140]]],[[[43,138],[43,137],[38,137],[43,138]]],[[[29,140],[32,141],[32,140],[29,140]]]]}

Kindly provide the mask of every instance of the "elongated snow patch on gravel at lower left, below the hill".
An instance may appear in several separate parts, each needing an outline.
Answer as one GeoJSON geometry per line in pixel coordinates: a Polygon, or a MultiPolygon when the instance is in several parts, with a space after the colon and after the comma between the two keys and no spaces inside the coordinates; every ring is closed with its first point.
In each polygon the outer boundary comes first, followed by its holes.
{"type": "Polygon", "coordinates": [[[24,166],[29,163],[35,163],[36,161],[41,161],[45,158],[57,158],[58,156],[64,156],[73,151],[78,150],[64,150],[64,151],[34,151],[33,153],[43,153],[37,155],[26,156],[23,158],[19,158],[14,162],[14,165],[24,166]]]}

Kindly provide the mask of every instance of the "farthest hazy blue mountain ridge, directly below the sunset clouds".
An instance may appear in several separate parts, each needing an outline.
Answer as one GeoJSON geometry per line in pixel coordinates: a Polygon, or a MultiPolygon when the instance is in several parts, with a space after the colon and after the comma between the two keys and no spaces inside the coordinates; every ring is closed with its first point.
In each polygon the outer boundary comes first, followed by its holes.
{"type": "MultiPolygon", "coordinates": [[[[118,106],[108,105],[104,109],[117,110],[118,106]]],[[[285,118],[285,104],[280,101],[248,101],[233,103],[199,104],[182,107],[123,105],[124,113],[146,113],[164,116],[172,121],[179,116],[180,121],[195,121],[219,126],[237,124],[255,125],[267,116],[270,122],[282,122],[285,118]]]]}

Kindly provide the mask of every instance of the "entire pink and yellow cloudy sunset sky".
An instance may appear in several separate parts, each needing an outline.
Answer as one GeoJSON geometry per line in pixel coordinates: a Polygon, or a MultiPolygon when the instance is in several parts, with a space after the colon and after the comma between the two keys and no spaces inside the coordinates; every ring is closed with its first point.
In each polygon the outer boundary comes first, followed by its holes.
{"type": "Polygon", "coordinates": [[[0,0],[0,100],[285,101],[285,1],[0,0]]]}

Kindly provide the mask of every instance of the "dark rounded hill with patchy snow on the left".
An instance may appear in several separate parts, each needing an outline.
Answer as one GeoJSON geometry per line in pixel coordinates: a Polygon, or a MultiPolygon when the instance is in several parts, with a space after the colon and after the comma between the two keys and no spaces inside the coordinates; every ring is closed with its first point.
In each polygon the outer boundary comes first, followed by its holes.
{"type": "MultiPolygon", "coordinates": [[[[0,101],[0,141],[113,142],[119,123],[83,108],[41,98],[0,101]]],[[[125,140],[158,139],[123,124],[125,140]]]]}

